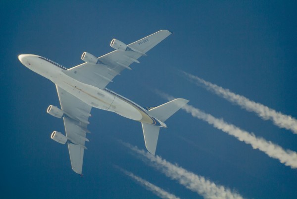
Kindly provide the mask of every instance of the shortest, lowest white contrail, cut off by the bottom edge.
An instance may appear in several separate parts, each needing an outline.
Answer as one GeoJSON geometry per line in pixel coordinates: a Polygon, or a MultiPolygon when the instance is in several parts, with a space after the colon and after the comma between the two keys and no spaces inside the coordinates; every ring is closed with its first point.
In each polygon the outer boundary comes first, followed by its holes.
{"type": "Polygon", "coordinates": [[[122,171],[124,174],[126,174],[127,176],[129,176],[130,178],[134,179],[135,181],[137,181],[140,185],[142,185],[143,187],[145,187],[147,190],[151,191],[153,194],[155,194],[156,196],[160,197],[161,199],[180,199],[178,197],[176,197],[173,194],[170,194],[168,192],[166,192],[165,190],[151,184],[150,182],[142,179],[139,176],[134,175],[133,173],[120,168],[119,166],[114,165],[114,167],[118,168],[120,171],[122,171]]]}

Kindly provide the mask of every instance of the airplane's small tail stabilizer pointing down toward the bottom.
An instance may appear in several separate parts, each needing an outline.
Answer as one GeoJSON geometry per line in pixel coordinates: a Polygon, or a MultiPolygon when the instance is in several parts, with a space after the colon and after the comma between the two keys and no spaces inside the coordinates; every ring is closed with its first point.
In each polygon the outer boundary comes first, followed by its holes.
{"type": "Polygon", "coordinates": [[[146,148],[151,154],[155,154],[159,137],[159,126],[141,123],[144,131],[146,148]]]}

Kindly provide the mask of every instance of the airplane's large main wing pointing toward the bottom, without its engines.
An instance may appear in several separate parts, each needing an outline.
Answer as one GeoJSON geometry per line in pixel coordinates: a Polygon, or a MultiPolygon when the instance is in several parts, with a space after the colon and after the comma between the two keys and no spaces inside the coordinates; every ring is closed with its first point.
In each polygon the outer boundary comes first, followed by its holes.
{"type": "Polygon", "coordinates": [[[82,174],[85,142],[89,141],[86,134],[89,132],[89,116],[92,106],[74,97],[67,91],[56,86],[61,109],[68,115],[63,117],[66,136],[69,139],[68,149],[71,167],[74,172],[82,174]]]}

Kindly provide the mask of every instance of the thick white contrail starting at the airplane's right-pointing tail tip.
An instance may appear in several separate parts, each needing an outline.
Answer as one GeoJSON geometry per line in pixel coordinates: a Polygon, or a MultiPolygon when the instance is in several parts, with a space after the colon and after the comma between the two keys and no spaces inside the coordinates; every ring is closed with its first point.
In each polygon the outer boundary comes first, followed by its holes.
{"type": "Polygon", "coordinates": [[[213,125],[213,127],[236,137],[239,141],[251,145],[253,149],[259,149],[265,152],[269,157],[279,159],[281,163],[284,163],[291,168],[297,168],[297,153],[295,151],[285,150],[270,141],[256,137],[253,133],[250,134],[233,124],[225,122],[223,119],[215,118],[191,105],[185,105],[182,109],[192,114],[193,117],[204,120],[208,124],[213,125]]]}

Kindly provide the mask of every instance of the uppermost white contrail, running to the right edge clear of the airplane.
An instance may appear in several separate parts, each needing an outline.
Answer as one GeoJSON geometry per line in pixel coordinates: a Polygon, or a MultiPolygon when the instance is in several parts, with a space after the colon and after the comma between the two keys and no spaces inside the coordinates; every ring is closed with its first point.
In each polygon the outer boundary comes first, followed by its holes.
{"type": "Polygon", "coordinates": [[[183,72],[190,80],[195,80],[198,86],[203,86],[207,90],[215,93],[216,95],[227,99],[233,103],[240,105],[242,108],[250,112],[255,112],[259,117],[264,120],[272,120],[272,122],[278,127],[291,130],[293,133],[297,134],[297,119],[290,115],[285,115],[281,112],[277,112],[261,103],[257,103],[244,96],[232,93],[229,89],[224,89],[220,86],[207,82],[197,76],[191,75],[189,73],[183,72]]]}

